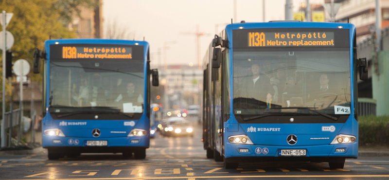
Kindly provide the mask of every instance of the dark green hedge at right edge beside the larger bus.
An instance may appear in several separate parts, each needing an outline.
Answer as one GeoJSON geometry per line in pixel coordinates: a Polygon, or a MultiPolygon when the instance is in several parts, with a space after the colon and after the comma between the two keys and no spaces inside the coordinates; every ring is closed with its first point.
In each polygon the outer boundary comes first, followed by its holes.
{"type": "Polygon", "coordinates": [[[389,145],[389,116],[359,116],[359,145],[389,145]]]}

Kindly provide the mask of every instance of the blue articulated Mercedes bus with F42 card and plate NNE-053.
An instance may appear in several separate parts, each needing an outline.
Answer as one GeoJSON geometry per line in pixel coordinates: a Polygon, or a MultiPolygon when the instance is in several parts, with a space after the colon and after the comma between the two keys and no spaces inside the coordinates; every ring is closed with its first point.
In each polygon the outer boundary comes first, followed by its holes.
{"type": "MultiPolygon", "coordinates": [[[[203,59],[203,144],[225,168],[241,162],[329,162],[358,156],[355,26],[229,24],[203,59]]],[[[358,71],[357,71],[358,70],[358,71]]]]}

